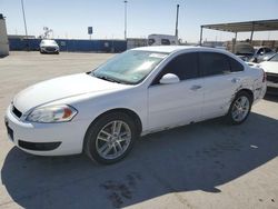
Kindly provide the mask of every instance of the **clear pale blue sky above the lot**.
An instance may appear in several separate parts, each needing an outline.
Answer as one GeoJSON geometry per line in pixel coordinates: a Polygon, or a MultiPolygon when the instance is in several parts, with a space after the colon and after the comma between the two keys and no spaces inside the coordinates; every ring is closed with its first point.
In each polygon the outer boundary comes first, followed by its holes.
{"type": "MultiPolygon", "coordinates": [[[[176,4],[180,4],[179,37],[188,42],[199,40],[200,24],[278,19],[278,0],[129,0],[128,37],[146,38],[150,33],[173,34],[176,4]]],[[[43,27],[54,38],[88,39],[87,27],[93,27],[95,39],[123,39],[123,0],[24,0],[28,33],[42,34],[43,27]]],[[[0,13],[7,20],[9,34],[23,34],[20,0],[0,0],[0,13]]],[[[230,40],[229,32],[205,30],[203,40],[230,40]]],[[[247,39],[250,33],[239,33],[247,39]]],[[[278,32],[255,32],[254,39],[278,39],[278,32]]]]}

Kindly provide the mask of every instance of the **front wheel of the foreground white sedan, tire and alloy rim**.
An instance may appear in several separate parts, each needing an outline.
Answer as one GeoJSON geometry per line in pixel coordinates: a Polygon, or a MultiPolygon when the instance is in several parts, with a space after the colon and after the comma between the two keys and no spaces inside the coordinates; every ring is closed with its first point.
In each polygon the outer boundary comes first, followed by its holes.
{"type": "Polygon", "coordinates": [[[112,112],[90,125],[85,136],[83,150],[91,160],[111,165],[120,161],[131,151],[137,137],[132,118],[122,112],[112,112]]]}

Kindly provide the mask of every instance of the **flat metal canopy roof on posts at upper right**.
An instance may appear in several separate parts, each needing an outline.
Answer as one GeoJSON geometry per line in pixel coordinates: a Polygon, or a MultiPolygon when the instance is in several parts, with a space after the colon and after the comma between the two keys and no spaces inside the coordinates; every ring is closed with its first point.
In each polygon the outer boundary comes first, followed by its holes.
{"type": "Polygon", "coordinates": [[[270,31],[270,30],[278,30],[278,19],[203,24],[201,27],[206,29],[221,30],[228,32],[270,31]]]}

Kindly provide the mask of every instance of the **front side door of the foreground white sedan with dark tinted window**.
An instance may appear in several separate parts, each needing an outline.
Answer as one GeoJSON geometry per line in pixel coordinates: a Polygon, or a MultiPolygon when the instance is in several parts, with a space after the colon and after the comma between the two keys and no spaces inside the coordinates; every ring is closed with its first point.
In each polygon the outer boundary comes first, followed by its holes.
{"type": "Polygon", "coordinates": [[[198,70],[198,54],[182,53],[173,58],[148,89],[150,130],[171,128],[200,120],[203,102],[203,81],[198,70]],[[161,84],[167,73],[179,77],[177,83],[161,84]]]}

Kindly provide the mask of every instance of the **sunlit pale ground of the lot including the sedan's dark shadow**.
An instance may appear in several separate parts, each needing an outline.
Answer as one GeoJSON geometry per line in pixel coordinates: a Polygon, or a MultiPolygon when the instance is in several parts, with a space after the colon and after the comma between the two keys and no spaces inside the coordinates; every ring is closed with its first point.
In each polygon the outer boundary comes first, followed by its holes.
{"type": "MultiPolygon", "coordinates": [[[[14,93],[112,54],[12,52],[0,59],[0,117],[14,93]]],[[[36,157],[0,123],[0,208],[278,208],[278,98],[241,126],[210,120],[141,138],[123,161],[36,157]]]]}

